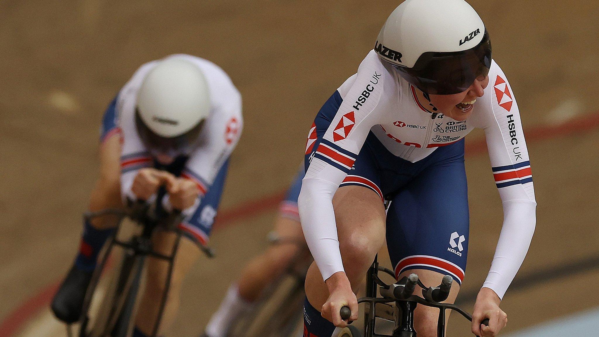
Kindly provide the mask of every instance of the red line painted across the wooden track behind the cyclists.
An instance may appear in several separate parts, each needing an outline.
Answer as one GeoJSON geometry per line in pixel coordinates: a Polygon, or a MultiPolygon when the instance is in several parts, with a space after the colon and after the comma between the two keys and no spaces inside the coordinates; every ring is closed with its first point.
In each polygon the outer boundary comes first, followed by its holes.
{"type": "MultiPolygon", "coordinates": [[[[594,131],[597,128],[599,128],[599,112],[581,115],[561,124],[530,127],[525,130],[525,136],[528,143],[533,143],[559,137],[576,136],[594,131]]],[[[468,156],[479,155],[483,152],[486,152],[485,139],[476,139],[466,143],[466,154],[468,156]]],[[[251,218],[252,216],[276,208],[280,201],[283,200],[285,192],[280,191],[266,195],[265,197],[247,201],[231,209],[223,210],[216,218],[214,230],[220,230],[237,221],[251,218]]],[[[47,306],[50,300],[52,300],[58,285],[59,282],[54,282],[44,287],[40,292],[8,314],[2,320],[2,324],[0,324],[0,337],[12,337],[32,315],[40,311],[44,306],[47,306]]]]}

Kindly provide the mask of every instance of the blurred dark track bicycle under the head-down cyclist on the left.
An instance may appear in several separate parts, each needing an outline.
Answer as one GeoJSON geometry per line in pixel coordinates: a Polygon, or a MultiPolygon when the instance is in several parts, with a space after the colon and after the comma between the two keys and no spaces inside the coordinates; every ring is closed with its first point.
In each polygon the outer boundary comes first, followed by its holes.
{"type": "MultiPolygon", "coordinates": [[[[159,189],[157,200],[162,200],[165,195],[164,186],[159,189]]],[[[170,288],[171,276],[173,274],[174,260],[182,232],[177,225],[183,220],[181,212],[174,210],[166,212],[161,204],[137,201],[130,203],[129,209],[105,209],[98,212],[84,214],[89,221],[92,218],[105,215],[113,215],[119,218],[117,230],[107,243],[104,255],[94,270],[89,288],[83,302],[83,310],[79,322],[78,337],[128,337],[134,328],[135,312],[138,305],[140,290],[143,289],[144,266],[147,257],[158,258],[167,261],[168,274],[165,280],[165,291],[161,297],[158,316],[152,329],[152,337],[156,337],[160,326],[162,314],[167,303],[168,289],[170,288]],[[129,218],[134,224],[141,227],[140,234],[134,234],[131,239],[123,241],[119,239],[122,220],[129,218]],[[171,253],[168,255],[156,252],[152,248],[152,237],[156,230],[172,231],[176,233],[176,239],[171,253]],[[102,296],[98,295],[98,281],[102,270],[107,265],[110,253],[115,246],[124,249],[122,260],[118,266],[114,278],[111,280],[108,291],[102,296]],[[92,308],[92,299],[101,297],[99,309],[92,308]]],[[[208,246],[198,243],[199,248],[208,257],[214,257],[214,252],[208,246]]],[[[67,326],[68,336],[72,336],[70,326],[67,326]]]]}

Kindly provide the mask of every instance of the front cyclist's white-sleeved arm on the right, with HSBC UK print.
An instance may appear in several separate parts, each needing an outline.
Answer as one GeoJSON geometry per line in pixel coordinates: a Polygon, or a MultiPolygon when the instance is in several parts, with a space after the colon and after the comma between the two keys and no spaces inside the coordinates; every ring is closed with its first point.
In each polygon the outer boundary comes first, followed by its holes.
{"type": "Polygon", "coordinates": [[[496,64],[495,67],[497,70],[491,71],[493,75],[489,74],[487,93],[490,99],[487,98],[489,104],[486,104],[489,118],[485,135],[495,183],[503,203],[504,219],[491,270],[483,287],[491,288],[501,299],[528,252],[536,226],[537,203],[518,104],[506,76],[496,64]],[[506,86],[507,89],[504,89],[506,86]],[[501,92],[506,90],[509,96],[503,97],[507,94],[501,92]]]}

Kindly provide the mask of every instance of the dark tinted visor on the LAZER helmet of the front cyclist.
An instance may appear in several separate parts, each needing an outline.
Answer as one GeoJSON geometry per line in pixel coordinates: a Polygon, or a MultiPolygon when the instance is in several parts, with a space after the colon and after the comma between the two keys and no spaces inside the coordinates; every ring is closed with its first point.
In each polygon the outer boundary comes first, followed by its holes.
{"type": "Polygon", "coordinates": [[[475,79],[483,80],[491,68],[491,40],[483,39],[462,52],[427,52],[420,55],[413,68],[394,65],[400,76],[416,88],[431,95],[459,94],[475,79]]]}

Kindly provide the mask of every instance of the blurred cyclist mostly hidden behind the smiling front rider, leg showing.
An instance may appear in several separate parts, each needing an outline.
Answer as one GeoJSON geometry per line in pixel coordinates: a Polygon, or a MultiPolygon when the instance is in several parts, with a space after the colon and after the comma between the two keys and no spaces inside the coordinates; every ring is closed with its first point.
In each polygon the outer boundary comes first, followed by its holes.
{"type": "Polygon", "coordinates": [[[304,242],[304,234],[299,224],[298,195],[304,166],[295,176],[285,200],[280,204],[279,215],[274,222],[277,238],[285,242],[272,245],[262,255],[253,258],[241,271],[238,281],[227,291],[219,309],[208,322],[205,337],[225,337],[233,321],[252,309],[262,291],[289,266],[301,249],[298,242],[304,242]]]}

